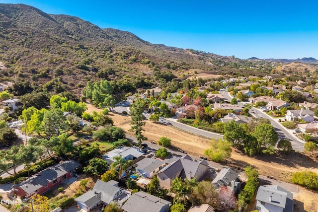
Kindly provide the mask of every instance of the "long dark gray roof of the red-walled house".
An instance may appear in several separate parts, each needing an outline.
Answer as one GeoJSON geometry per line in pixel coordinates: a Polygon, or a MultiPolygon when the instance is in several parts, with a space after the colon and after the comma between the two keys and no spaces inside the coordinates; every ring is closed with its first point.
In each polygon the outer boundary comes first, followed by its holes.
{"type": "Polygon", "coordinates": [[[14,187],[20,187],[27,194],[30,194],[77,167],[79,167],[79,163],[74,160],[63,161],[32,175],[29,179],[15,185],[14,187]]]}

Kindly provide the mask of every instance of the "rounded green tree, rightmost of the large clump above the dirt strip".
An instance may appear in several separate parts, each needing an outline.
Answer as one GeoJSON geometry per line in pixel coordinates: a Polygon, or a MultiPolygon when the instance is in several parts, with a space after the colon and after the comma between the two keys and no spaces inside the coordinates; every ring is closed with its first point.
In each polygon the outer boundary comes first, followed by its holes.
{"type": "MultiPolygon", "coordinates": [[[[278,135],[274,127],[270,124],[261,123],[255,127],[253,136],[257,140],[256,153],[259,154],[262,147],[271,150],[278,141],[278,135]]],[[[264,150],[263,150],[264,152],[264,150]]],[[[269,153],[274,153],[270,151],[269,153]]]]}

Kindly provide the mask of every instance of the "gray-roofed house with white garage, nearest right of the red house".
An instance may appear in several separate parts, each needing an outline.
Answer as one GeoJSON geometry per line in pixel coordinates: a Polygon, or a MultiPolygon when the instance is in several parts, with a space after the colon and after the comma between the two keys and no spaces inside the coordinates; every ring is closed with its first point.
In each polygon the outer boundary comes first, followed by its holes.
{"type": "Polygon", "coordinates": [[[100,204],[107,206],[113,202],[123,203],[130,196],[130,192],[119,188],[118,182],[115,180],[108,182],[97,180],[92,190],[82,194],[75,201],[81,210],[89,212],[100,204]]]}

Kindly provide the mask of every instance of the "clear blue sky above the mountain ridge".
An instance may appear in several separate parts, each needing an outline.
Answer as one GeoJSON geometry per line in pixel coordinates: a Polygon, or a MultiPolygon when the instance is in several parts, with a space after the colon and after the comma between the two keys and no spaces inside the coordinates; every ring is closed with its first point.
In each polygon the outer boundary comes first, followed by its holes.
{"type": "Polygon", "coordinates": [[[318,59],[318,0],[0,0],[240,59],[318,59]]]}

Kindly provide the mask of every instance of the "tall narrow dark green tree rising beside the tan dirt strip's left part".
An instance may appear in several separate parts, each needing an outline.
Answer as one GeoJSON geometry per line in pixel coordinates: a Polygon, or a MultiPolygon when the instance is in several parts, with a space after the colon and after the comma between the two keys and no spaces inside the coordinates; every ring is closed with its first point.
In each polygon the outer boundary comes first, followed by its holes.
{"type": "Polygon", "coordinates": [[[143,116],[145,106],[145,102],[142,99],[139,99],[130,107],[131,129],[129,131],[133,132],[136,136],[139,147],[141,147],[142,142],[147,139],[142,135],[143,126],[146,124],[143,116]]]}

